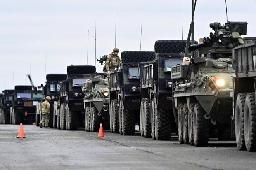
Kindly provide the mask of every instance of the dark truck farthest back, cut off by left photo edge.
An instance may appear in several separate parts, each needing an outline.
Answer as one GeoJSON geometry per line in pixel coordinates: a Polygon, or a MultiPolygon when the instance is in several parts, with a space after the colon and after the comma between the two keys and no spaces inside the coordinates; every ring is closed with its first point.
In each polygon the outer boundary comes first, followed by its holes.
{"type": "Polygon", "coordinates": [[[3,90],[0,106],[0,124],[10,124],[10,108],[14,90],[3,90]]]}

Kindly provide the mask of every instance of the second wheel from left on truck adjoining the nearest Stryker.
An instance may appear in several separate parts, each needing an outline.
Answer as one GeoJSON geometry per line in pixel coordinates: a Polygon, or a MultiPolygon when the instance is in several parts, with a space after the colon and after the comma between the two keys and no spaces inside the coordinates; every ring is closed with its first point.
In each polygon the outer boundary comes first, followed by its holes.
{"type": "Polygon", "coordinates": [[[150,122],[150,108],[149,108],[149,98],[145,98],[144,102],[144,112],[143,112],[143,130],[144,136],[146,138],[151,137],[151,122],[150,122]]]}

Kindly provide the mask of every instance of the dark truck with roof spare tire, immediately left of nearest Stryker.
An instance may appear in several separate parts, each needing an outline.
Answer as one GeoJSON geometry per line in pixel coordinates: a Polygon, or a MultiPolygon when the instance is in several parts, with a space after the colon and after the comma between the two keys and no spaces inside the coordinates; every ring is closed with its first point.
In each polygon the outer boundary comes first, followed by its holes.
{"type": "Polygon", "coordinates": [[[140,132],[142,137],[169,140],[177,131],[173,117],[171,67],[181,64],[186,47],[183,40],[155,42],[153,61],[140,68],[140,132]]]}

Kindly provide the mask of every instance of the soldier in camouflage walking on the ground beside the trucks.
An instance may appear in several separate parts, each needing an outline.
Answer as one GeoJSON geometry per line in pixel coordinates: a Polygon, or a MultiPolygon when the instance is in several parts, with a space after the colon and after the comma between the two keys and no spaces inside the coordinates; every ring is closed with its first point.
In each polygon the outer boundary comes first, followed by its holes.
{"type": "Polygon", "coordinates": [[[45,98],[45,101],[42,102],[41,105],[41,112],[42,112],[42,120],[39,123],[39,127],[42,128],[42,123],[45,122],[45,128],[50,128],[48,126],[49,124],[49,119],[50,119],[50,103],[49,101],[51,100],[50,96],[47,96],[45,98]]]}

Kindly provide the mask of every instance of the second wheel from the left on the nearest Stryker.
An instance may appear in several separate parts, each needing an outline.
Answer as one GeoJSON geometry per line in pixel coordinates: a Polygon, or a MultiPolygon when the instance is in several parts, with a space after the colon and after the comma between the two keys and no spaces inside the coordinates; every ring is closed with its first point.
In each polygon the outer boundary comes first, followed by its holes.
{"type": "Polygon", "coordinates": [[[188,140],[188,108],[187,104],[183,105],[183,112],[182,112],[182,132],[183,132],[183,141],[184,144],[189,144],[188,140]]]}

